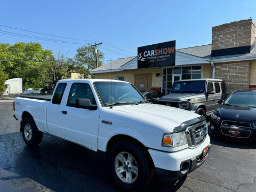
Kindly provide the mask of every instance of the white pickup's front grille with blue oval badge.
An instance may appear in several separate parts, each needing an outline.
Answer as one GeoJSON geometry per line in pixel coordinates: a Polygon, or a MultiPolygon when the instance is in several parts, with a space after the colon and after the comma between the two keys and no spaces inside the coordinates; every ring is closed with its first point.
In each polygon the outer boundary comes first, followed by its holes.
{"type": "Polygon", "coordinates": [[[201,123],[188,126],[186,132],[188,146],[196,147],[200,145],[207,136],[207,123],[203,121],[201,123]]]}

